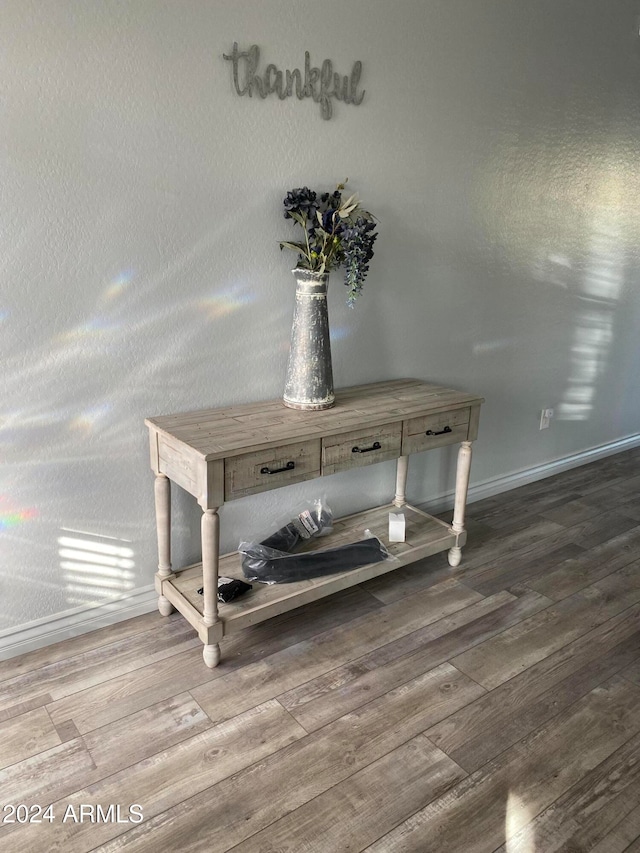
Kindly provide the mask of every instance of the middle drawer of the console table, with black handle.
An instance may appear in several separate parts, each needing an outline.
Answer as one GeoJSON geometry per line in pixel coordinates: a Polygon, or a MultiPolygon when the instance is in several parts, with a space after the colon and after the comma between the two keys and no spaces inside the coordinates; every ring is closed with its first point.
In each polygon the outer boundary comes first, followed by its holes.
{"type": "Polygon", "coordinates": [[[322,439],[322,473],[335,474],[400,456],[402,424],[384,424],[322,439]]]}

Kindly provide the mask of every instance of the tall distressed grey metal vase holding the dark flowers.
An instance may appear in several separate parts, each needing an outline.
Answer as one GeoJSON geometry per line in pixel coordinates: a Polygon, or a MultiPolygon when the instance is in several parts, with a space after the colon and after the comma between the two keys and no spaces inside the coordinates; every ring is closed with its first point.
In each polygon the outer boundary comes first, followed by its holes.
{"type": "Polygon", "coordinates": [[[330,409],[335,395],[327,311],[329,273],[298,268],[292,272],[296,302],[284,404],[290,409],[330,409]]]}

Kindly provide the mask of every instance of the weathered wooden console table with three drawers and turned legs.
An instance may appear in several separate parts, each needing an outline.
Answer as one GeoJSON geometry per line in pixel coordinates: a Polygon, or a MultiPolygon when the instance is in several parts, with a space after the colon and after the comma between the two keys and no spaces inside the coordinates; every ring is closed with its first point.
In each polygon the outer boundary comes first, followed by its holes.
{"type": "Polygon", "coordinates": [[[174,607],[180,611],[204,643],[206,665],[214,667],[220,640],[231,631],[440,551],[448,550],[450,565],[459,565],[466,540],[471,442],[483,402],[473,394],[400,379],[338,391],[335,407],[324,411],[297,411],[274,400],[148,418],[156,475],[160,612],[168,616],[174,607]],[[410,454],[448,444],[460,444],[450,525],[405,500],[410,454]],[[398,460],[393,501],[334,521],[333,533],[316,542],[321,548],[334,547],[361,539],[369,528],[395,560],[300,583],[254,583],[245,596],[218,603],[218,573],[243,577],[237,553],[219,555],[218,509],[225,501],[387,459],[398,460]],[[171,481],[202,508],[202,562],[177,572],[171,567],[171,481]],[[390,544],[388,514],[398,507],[406,518],[406,541],[390,544]],[[203,594],[197,592],[201,587],[203,594]]]}

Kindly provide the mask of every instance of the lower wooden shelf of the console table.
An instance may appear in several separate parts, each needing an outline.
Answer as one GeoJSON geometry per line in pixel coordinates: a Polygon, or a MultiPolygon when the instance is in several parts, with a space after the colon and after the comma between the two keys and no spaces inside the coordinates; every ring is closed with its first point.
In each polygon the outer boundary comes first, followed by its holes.
{"type": "MultiPolygon", "coordinates": [[[[341,589],[363,583],[370,578],[392,572],[407,563],[448,550],[454,545],[462,546],[466,534],[456,536],[451,526],[409,505],[401,509],[393,506],[375,507],[334,522],[333,532],[314,540],[314,550],[335,548],[363,539],[364,531],[370,530],[393,555],[394,559],[383,560],[326,575],[320,578],[286,584],[253,583],[253,589],[229,604],[219,604],[219,617],[223,633],[238,631],[248,625],[263,622],[287,610],[301,607],[341,589]],[[389,542],[389,513],[403,512],[406,519],[405,542],[389,542]],[[457,542],[456,542],[457,540],[457,542]]],[[[237,552],[220,557],[220,577],[244,579],[240,555],[237,552]]],[[[196,629],[203,625],[203,596],[197,590],[202,587],[202,563],[188,566],[173,577],[163,581],[163,594],[196,629]]]]}

